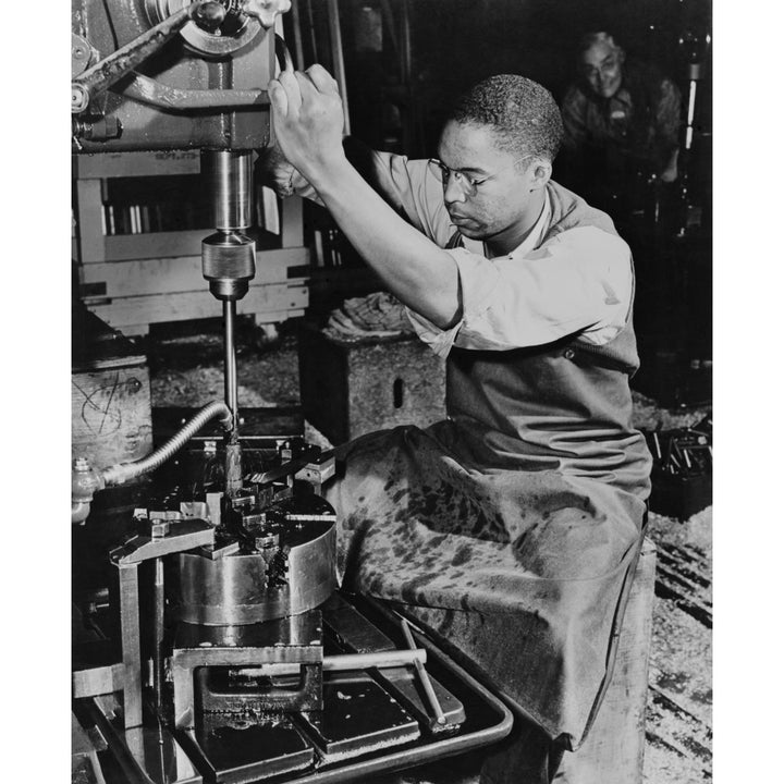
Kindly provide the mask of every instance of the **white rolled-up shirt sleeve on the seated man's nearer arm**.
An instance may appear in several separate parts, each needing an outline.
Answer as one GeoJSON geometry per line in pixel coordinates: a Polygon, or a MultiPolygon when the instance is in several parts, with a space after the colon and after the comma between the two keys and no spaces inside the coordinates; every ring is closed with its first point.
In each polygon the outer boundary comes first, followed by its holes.
{"type": "Polygon", "coordinates": [[[419,338],[440,356],[455,345],[506,351],[575,332],[601,345],[623,329],[633,296],[630,253],[592,226],[565,231],[518,256],[487,259],[455,248],[463,316],[448,330],[409,310],[419,338]]]}

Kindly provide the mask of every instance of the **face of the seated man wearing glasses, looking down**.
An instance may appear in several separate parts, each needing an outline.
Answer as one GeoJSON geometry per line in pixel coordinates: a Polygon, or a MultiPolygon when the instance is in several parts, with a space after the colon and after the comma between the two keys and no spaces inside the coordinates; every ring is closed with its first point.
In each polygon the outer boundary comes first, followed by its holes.
{"type": "Polygon", "coordinates": [[[448,122],[438,151],[445,167],[460,172],[444,174],[443,182],[444,205],[461,234],[488,241],[516,233],[528,218],[532,167],[515,167],[519,158],[497,147],[488,125],[448,122]]]}

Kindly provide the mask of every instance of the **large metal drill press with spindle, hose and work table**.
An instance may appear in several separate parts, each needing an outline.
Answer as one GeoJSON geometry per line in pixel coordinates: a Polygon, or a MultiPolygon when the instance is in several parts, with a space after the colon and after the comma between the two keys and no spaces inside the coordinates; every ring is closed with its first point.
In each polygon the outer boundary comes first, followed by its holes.
{"type": "Polygon", "coordinates": [[[74,149],[201,149],[216,228],[203,242],[203,273],[224,324],[224,401],[139,461],[74,464],[75,524],[97,491],[156,475],[136,532],[109,553],[109,601],[78,613],[93,637],[114,640],[98,662],[75,647],[73,696],[118,781],[357,779],[487,744],[511,726],[509,711],[424,650],[405,622],[390,628],[377,611],[371,623],[335,593],[335,514],[320,495],[331,455],[301,439],[243,446],[234,322],[255,274],[245,233],[253,150],[270,143],[258,85],[273,73],[275,48],[286,56],[269,30],[290,4],[74,0],[74,149]],[[194,448],[213,419],[220,446],[194,448]],[[428,653],[439,679],[424,667],[428,653]]]}

